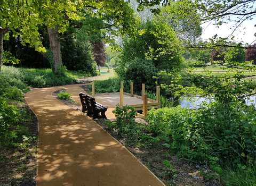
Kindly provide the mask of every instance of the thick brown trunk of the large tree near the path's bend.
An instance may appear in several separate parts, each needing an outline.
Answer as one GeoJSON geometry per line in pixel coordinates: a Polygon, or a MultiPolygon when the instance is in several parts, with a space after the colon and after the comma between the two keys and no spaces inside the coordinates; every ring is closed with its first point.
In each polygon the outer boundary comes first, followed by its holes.
{"type": "Polygon", "coordinates": [[[48,28],[47,32],[49,34],[50,47],[52,52],[52,60],[54,62],[54,73],[58,73],[58,67],[62,66],[61,55],[60,55],[60,38],[59,38],[59,28],[48,28]]]}

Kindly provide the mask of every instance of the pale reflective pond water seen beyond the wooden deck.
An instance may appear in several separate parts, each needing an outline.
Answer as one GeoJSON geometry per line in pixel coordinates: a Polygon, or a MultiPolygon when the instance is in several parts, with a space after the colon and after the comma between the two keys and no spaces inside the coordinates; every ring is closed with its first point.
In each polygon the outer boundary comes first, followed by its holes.
{"type": "MultiPolygon", "coordinates": [[[[214,101],[213,98],[205,98],[205,97],[200,97],[200,96],[195,96],[195,97],[184,97],[182,100],[179,101],[180,106],[182,108],[198,108],[199,105],[202,104],[202,102],[210,103],[214,101]],[[186,100],[188,98],[194,98],[191,100],[186,100]]],[[[248,99],[245,99],[246,105],[254,105],[256,107],[256,96],[251,96],[248,99]]]]}

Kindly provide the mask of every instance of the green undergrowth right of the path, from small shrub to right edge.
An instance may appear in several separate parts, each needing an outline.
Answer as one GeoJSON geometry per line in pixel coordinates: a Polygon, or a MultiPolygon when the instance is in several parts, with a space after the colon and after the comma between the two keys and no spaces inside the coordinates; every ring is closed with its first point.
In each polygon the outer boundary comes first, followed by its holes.
{"type": "MultiPolygon", "coordinates": [[[[210,167],[223,185],[256,185],[256,111],[211,103],[195,109],[151,109],[147,124],[134,124],[131,107],[113,111],[108,127],[137,147],[164,146],[190,164],[210,167]],[[135,139],[135,140],[134,140],[135,139]],[[232,181],[230,181],[232,180],[232,181]]],[[[167,166],[167,165],[166,165],[167,166]]],[[[174,172],[169,166],[170,173],[174,172]]],[[[175,177],[175,174],[172,174],[175,177]]],[[[209,177],[202,172],[202,176],[209,177]]],[[[210,178],[210,177],[209,177],[210,178]]]]}

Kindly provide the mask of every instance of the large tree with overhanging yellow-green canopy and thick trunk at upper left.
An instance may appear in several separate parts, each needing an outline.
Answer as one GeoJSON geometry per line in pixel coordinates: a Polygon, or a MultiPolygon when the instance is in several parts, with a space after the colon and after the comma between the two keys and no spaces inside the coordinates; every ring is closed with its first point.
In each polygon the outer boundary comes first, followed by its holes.
{"type": "MultiPolygon", "coordinates": [[[[139,2],[140,6],[151,6],[160,3],[159,1],[139,2]]],[[[29,43],[36,50],[45,53],[45,48],[39,40],[37,28],[38,24],[44,24],[49,33],[52,60],[55,72],[57,72],[58,66],[62,65],[60,41],[69,37],[75,28],[79,28],[76,21],[83,19],[83,15],[80,14],[79,10],[84,10],[87,15],[106,18],[106,27],[104,29],[111,31],[112,36],[124,36],[125,33],[132,34],[134,32],[135,19],[133,18],[133,11],[128,3],[123,0],[115,3],[109,3],[107,0],[103,0],[100,3],[97,1],[74,0],[22,1],[20,3],[19,0],[0,0],[0,7],[0,65],[2,65],[2,41],[4,36],[9,30],[16,33],[15,28],[21,28],[20,33],[17,34],[22,35],[23,43],[29,43]],[[63,35],[65,32],[67,35],[63,35]]],[[[86,19],[83,20],[86,22],[86,19]]]]}

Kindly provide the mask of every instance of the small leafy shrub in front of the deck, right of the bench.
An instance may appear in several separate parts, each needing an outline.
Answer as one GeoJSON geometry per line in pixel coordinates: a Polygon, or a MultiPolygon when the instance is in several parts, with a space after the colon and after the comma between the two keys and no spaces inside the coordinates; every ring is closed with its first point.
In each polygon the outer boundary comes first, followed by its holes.
{"type": "Polygon", "coordinates": [[[120,106],[116,105],[116,109],[112,111],[116,116],[116,125],[121,131],[121,133],[126,133],[134,126],[135,116],[137,115],[135,112],[135,108],[130,106],[120,106]]]}

